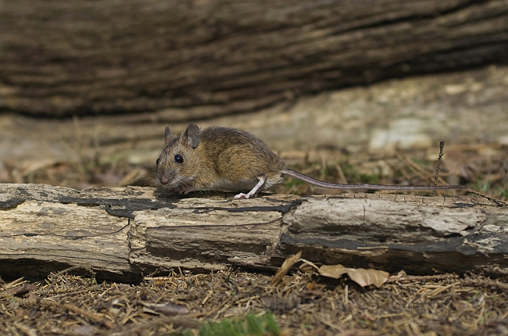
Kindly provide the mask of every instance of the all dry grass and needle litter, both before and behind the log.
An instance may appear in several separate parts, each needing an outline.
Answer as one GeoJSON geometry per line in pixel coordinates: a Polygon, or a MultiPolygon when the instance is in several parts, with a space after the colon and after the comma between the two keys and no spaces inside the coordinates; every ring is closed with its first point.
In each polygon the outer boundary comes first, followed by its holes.
{"type": "MultiPolygon", "coordinates": [[[[325,152],[299,156],[306,160],[290,158],[289,163],[305,174],[339,183],[432,185],[432,157],[437,152],[335,153],[335,157],[325,152]]],[[[490,197],[507,199],[507,146],[445,147],[444,152],[440,184],[468,184],[490,197]]],[[[133,169],[145,175],[138,183],[150,183],[150,167],[125,162],[4,164],[0,181],[73,188],[117,186],[132,183],[128,179],[135,179],[133,169]]],[[[277,192],[330,191],[286,179],[277,192]]],[[[508,335],[508,280],[481,275],[394,275],[380,289],[362,289],[347,279],[299,272],[284,277],[275,287],[270,285],[271,275],[241,270],[198,275],[180,271],[167,277],[145,277],[139,284],[97,284],[93,277],[73,272],[32,282],[36,289],[14,290],[21,281],[4,283],[0,334],[179,335],[190,329],[198,335],[205,320],[273,311],[285,335],[508,335]]]]}

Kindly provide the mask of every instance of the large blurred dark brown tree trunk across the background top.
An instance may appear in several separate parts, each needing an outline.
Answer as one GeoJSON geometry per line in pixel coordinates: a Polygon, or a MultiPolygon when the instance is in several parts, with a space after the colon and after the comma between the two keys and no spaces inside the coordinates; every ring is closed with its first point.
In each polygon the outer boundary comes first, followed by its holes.
{"type": "Polygon", "coordinates": [[[0,111],[243,112],[508,56],[508,1],[0,0],[0,111]]]}

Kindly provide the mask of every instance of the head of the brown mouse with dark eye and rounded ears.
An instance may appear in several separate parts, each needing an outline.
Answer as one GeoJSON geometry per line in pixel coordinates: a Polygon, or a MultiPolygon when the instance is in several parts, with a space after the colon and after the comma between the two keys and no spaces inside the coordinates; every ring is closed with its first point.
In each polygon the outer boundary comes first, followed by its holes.
{"type": "Polygon", "coordinates": [[[157,178],[174,191],[188,191],[198,176],[201,165],[198,145],[200,129],[190,124],[181,136],[174,136],[169,126],[164,129],[164,148],[157,159],[157,178]]]}

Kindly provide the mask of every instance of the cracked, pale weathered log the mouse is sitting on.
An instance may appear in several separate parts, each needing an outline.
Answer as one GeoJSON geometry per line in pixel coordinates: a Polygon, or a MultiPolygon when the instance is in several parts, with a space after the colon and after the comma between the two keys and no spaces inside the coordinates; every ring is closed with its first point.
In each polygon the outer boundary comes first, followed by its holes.
{"type": "Polygon", "coordinates": [[[0,274],[69,266],[138,280],[154,270],[274,270],[317,263],[430,273],[508,274],[508,210],[483,198],[343,194],[232,200],[153,188],[0,184],[0,274]]]}

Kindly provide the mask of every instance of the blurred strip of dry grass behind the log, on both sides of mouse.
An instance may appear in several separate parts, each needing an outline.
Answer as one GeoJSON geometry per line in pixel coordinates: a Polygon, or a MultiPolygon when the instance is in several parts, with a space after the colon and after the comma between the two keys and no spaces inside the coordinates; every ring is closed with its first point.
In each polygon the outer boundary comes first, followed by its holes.
{"type": "MultiPolygon", "coordinates": [[[[399,150],[390,155],[350,155],[339,150],[320,150],[310,154],[293,152],[293,157],[284,159],[291,168],[330,182],[431,186],[434,184],[438,152],[439,148],[433,148],[399,150]]],[[[4,169],[0,170],[0,182],[44,183],[77,189],[90,186],[155,186],[154,169],[154,164],[134,166],[125,161],[114,160],[80,164],[32,162],[27,167],[4,162],[4,169]]],[[[445,146],[444,161],[437,184],[465,184],[492,198],[508,200],[508,146],[445,146]]],[[[317,188],[286,177],[285,183],[275,189],[275,192],[310,195],[344,191],[317,188]]],[[[456,194],[464,193],[459,191],[456,194]]],[[[430,196],[431,192],[417,194],[430,196]]],[[[440,194],[443,193],[437,193],[440,194]]],[[[449,191],[444,191],[444,194],[453,195],[449,191]]]]}

